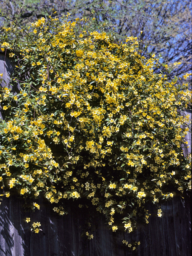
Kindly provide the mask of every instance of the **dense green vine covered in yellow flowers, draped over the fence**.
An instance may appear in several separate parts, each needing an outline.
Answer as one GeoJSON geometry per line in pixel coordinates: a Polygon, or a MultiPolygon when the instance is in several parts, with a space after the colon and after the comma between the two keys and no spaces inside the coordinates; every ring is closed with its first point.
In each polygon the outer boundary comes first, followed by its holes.
{"type": "Polygon", "coordinates": [[[0,48],[14,61],[10,85],[20,93],[0,88],[1,196],[17,191],[32,209],[43,196],[60,215],[66,200],[86,198],[112,231],[132,232],[138,220],[148,223],[146,202],[190,189],[181,148],[189,116],[178,112],[190,92],[154,73],[159,59],[142,56],[137,38],[118,44],[89,33],[87,22],[67,15],[27,31],[2,28],[0,48]]]}

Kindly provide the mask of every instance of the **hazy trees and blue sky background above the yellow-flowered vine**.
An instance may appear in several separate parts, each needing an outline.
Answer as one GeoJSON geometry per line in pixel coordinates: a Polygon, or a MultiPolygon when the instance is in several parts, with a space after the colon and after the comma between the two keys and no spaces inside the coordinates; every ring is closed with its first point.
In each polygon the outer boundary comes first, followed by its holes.
{"type": "MultiPolygon", "coordinates": [[[[107,32],[116,34],[116,41],[125,36],[139,36],[140,50],[162,55],[176,76],[191,72],[191,2],[183,0],[2,0],[4,16],[29,26],[37,18],[48,18],[70,12],[73,18],[95,17],[92,30],[106,24],[107,32]],[[175,69],[173,63],[182,64],[175,69]]],[[[1,18],[0,24],[5,24],[1,18]]],[[[8,24],[7,24],[8,25],[8,24]]],[[[156,72],[160,72],[155,70],[156,72]]],[[[189,78],[190,79],[190,78],[189,78]]],[[[183,81],[182,81],[183,82],[183,81]]]]}

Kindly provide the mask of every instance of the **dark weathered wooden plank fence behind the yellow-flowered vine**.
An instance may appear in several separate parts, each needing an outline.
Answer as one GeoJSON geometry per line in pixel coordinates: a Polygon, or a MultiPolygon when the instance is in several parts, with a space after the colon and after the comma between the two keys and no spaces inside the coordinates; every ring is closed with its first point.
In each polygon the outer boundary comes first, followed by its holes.
{"type": "MultiPolygon", "coordinates": [[[[9,58],[5,59],[0,53],[0,73],[4,73],[7,82],[11,72],[9,58]]],[[[191,145],[190,134],[186,138],[191,145]]],[[[104,218],[92,214],[92,240],[81,236],[86,209],[80,211],[73,202],[67,205],[68,215],[58,216],[47,202],[41,203],[40,210],[29,213],[24,212],[17,196],[4,198],[0,205],[0,256],[190,256],[190,198],[186,193],[183,198],[174,197],[161,204],[162,218],[156,216],[155,206],[148,204],[152,214],[149,224],[139,226],[130,234],[108,230],[104,218]],[[32,222],[40,222],[42,231],[32,233],[30,224],[25,222],[26,217],[32,222]],[[138,250],[130,251],[123,246],[122,240],[140,241],[141,244],[138,250]]]]}

